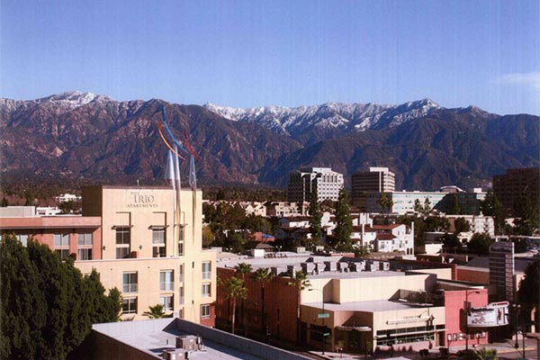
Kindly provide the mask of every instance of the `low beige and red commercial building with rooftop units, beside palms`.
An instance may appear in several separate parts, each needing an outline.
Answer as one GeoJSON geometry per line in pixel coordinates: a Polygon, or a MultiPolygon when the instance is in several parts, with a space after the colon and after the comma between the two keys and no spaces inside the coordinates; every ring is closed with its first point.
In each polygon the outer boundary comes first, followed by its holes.
{"type": "MultiPolygon", "coordinates": [[[[321,348],[324,343],[327,349],[339,345],[353,353],[391,346],[418,350],[430,344],[447,346],[450,335],[452,345],[464,345],[464,291],[475,289],[466,296],[471,306],[488,303],[484,286],[455,282],[451,265],[293,254],[275,259],[225,256],[218,263],[220,278],[226,281],[237,275],[235,266],[240,262],[253,271],[269,268],[275,276],[264,284],[265,297],[263,284],[252,275],[244,276],[247,298],[238,305],[239,333],[290,344],[321,348]],[[300,270],[309,280],[303,288],[294,286],[293,274],[300,270]],[[458,297],[463,298],[461,302],[453,300],[458,297]],[[459,335],[456,340],[455,334],[459,335]]],[[[232,309],[222,291],[219,287],[216,325],[229,329],[232,309]]],[[[475,335],[474,341],[485,344],[487,338],[475,335]]]]}

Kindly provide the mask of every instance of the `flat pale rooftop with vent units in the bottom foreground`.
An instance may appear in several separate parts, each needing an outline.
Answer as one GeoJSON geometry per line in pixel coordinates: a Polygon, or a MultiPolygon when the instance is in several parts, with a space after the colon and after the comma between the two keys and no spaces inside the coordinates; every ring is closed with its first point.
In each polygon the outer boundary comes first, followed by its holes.
{"type": "Polygon", "coordinates": [[[306,357],[181,319],[95,324],[77,358],[286,359],[306,357]],[[188,357],[185,357],[185,353],[188,357]],[[175,357],[169,356],[175,354],[175,357]]]}

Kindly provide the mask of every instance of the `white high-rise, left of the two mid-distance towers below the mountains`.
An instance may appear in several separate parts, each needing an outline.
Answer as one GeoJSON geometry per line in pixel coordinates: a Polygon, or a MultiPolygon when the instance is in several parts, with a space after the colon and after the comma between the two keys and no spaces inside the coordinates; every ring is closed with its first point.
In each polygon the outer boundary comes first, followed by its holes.
{"type": "Polygon", "coordinates": [[[343,187],[343,174],[330,167],[309,167],[294,170],[289,174],[287,200],[289,202],[311,202],[311,192],[317,189],[318,200],[338,201],[343,187]]]}

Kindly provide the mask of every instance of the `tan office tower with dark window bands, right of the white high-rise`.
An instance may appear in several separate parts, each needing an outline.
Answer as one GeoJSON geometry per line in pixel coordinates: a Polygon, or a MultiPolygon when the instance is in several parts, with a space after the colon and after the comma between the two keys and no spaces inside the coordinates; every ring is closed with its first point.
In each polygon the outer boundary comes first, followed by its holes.
{"type": "Polygon", "coordinates": [[[370,167],[369,171],[352,175],[353,205],[365,210],[368,193],[392,193],[396,189],[396,175],[388,167],[370,167]]]}

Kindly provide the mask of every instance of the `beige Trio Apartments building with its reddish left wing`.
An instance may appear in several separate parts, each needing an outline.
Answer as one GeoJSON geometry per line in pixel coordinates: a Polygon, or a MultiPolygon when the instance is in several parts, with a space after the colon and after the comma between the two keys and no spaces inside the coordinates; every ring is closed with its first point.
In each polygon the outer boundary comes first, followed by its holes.
{"type": "Polygon", "coordinates": [[[179,206],[175,198],[165,186],[90,186],[83,216],[3,215],[0,231],[74,257],[83,274],[95,269],[105,289],[121,291],[124,320],[148,319],[143,312],[161,303],[213,326],[216,253],[202,249],[202,192],[182,190],[179,206]]]}

